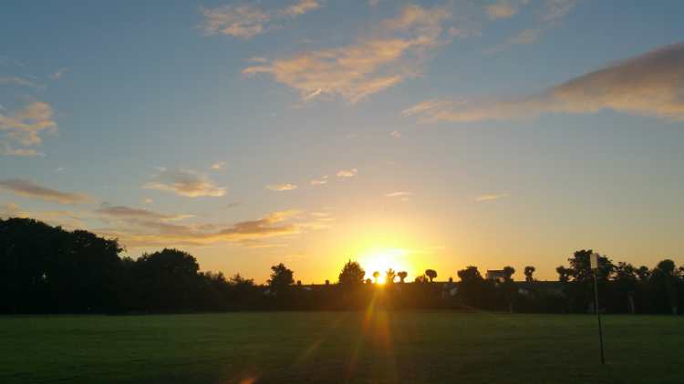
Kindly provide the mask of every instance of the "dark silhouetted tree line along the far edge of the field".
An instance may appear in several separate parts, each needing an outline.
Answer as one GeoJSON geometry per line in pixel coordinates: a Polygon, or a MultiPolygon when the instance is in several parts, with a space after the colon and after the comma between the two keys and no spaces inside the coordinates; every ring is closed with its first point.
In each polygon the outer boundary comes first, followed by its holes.
{"type": "MultiPolygon", "coordinates": [[[[366,271],[351,259],[337,282],[302,286],[295,272],[278,264],[257,285],[239,273],[200,272],[197,260],[164,248],[140,258],[119,257],[116,238],[85,230],[67,231],[30,218],[0,218],[0,313],[179,313],[236,310],[481,309],[516,312],[596,310],[591,250],[575,252],[569,266],[556,268],[557,282],[534,278],[524,268],[515,281],[512,267],[503,277],[486,278],[477,267],[457,272],[460,281],[437,282],[427,269],[406,282],[406,271],[385,271],[385,284],[364,280],[366,271]],[[399,279],[399,281],[398,281],[399,279]]],[[[655,268],[614,264],[601,257],[596,270],[599,304],[608,313],[679,313],[684,308],[684,267],[665,259],[655,268]]]]}

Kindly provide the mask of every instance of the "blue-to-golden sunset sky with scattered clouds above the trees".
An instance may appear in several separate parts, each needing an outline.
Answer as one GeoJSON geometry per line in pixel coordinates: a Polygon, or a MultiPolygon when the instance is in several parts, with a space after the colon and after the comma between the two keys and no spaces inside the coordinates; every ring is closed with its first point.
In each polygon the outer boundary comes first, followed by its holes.
{"type": "Polygon", "coordinates": [[[684,264],[684,2],[0,2],[0,217],[303,284],[684,264]]]}

